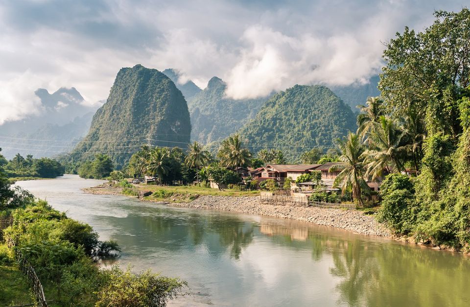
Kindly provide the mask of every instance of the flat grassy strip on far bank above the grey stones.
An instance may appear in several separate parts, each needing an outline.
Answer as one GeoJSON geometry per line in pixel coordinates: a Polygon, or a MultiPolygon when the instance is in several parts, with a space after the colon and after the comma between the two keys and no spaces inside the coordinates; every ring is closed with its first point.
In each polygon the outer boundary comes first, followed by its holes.
{"type": "Polygon", "coordinates": [[[147,196],[145,199],[154,201],[188,202],[202,195],[215,196],[257,196],[259,191],[240,191],[235,189],[211,189],[196,186],[157,186],[140,184],[135,185],[141,191],[152,191],[158,196],[147,196]]]}

